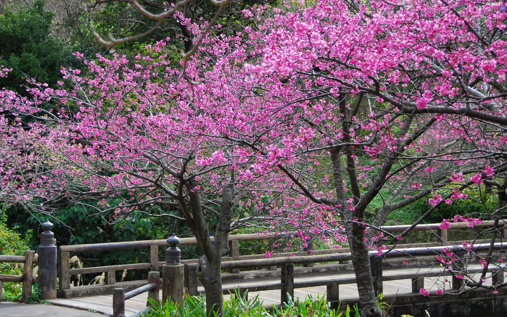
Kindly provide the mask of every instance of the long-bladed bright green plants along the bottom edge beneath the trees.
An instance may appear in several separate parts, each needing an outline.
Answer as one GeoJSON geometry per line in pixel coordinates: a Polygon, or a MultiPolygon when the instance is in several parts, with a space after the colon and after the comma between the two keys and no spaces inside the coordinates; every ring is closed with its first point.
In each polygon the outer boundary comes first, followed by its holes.
{"type": "MultiPolygon", "coordinates": [[[[324,297],[314,300],[308,295],[303,301],[293,302],[289,297],[288,303],[283,307],[273,306],[272,311],[262,306],[259,296],[247,300],[247,292],[243,296],[238,295],[238,290],[231,296],[230,300],[224,301],[223,317],[340,317],[343,312],[338,309],[331,309],[331,304],[324,297]]],[[[185,295],[181,304],[176,304],[168,299],[165,304],[158,303],[148,299],[153,308],[144,317],[204,317],[206,313],[205,295],[188,296],[185,295]]],[[[357,305],[354,305],[355,317],[359,316],[357,305]]],[[[213,316],[216,313],[213,312],[213,316]]],[[[350,307],[347,305],[345,317],[350,317],[350,307]]]]}

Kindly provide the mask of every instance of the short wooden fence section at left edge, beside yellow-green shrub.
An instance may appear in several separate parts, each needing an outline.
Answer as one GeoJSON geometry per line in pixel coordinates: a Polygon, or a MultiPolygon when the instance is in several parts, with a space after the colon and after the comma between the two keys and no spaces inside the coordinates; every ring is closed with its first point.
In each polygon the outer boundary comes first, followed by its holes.
{"type": "Polygon", "coordinates": [[[16,255],[0,255],[0,263],[23,263],[23,275],[5,275],[0,274],[0,302],[2,301],[2,290],[4,282],[22,283],[23,290],[21,301],[26,302],[32,293],[32,284],[37,281],[37,277],[33,276],[33,264],[39,260],[35,251],[27,250],[24,256],[16,255]]]}

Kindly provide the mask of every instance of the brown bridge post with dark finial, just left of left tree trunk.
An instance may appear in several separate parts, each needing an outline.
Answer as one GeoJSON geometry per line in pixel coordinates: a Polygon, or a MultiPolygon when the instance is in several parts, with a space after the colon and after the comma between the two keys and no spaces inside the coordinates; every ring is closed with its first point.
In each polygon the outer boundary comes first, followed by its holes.
{"type": "Polygon", "coordinates": [[[169,248],[165,251],[165,264],[162,266],[162,301],[169,297],[175,303],[180,303],[183,297],[184,265],[182,251],[177,248],[180,240],[175,233],[167,238],[169,248]]]}

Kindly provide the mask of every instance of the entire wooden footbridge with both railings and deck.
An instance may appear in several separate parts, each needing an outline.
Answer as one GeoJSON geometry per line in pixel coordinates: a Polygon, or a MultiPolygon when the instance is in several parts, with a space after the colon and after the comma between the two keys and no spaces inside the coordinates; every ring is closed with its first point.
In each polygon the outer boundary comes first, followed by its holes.
{"type": "MultiPolygon", "coordinates": [[[[507,224],[507,221],[505,221],[507,224]]],[[[467,290],[455,295],[434,296],[438,285],[446,285],[446,291],[458,293],[462,280],[449,272],[443,272],[435,259],[442,253],[443,248],[454,249],[461,256],[460,245],[450,246],[448,230],[440,230],[440,224],[418,225],[414,231],[434,231],[439,234],[440,242],[415,243],[397,245],[390,252],[371,252],[372,276],[374,287],[378,293],[384,293],[384,301],[391,304],[391,316],[411,314],[416,317],[425,316],[425,310],[430,315],[462,316],[477,314],[505,315],[507,313],[507,290],[500,289],[498,294],[489,290],[467,290]],[[410,264],[405,264],[409,260],[410,264]],[[445,281],[448,279],[448,282],[445,281]],[[425,288],[431,296],[423,296],[419,290],[425,288]]],[[[480,226],[491,226],[492,222],[485,222],[480,226]]],[[[503,225],[503,224],[502,224],[503,225]]],[[[385,226],[388,232],[401,232],[408,226],[385,226]]],[[[452,224],[450,231],[466,228],[464,223],[452,224]]],[[[503,230],[505,233],[506,230],[503,230]]],[[[505,234],[503,234],[505,236],[505,234]]],[[[248,297],[259,296],[264,305],[280,304],[287,300],[285,294],[292,297],[304,298],[311,294],[314,298],[325,296],[336,307],[338,301],[343,305],[357,303],[358,294],[355,285],[355,275],[350,263],[348,249],[308,250],[298,254],[275,254],[272,258],[262,255],[239,255],[239,241],[260,241],[276,239],[275,235],[237,234],[230,236],[231,253],[223,257],[222,269],[229,270],[222,273],[223,293],[228,298],[231,293],[239,289],[240,294],[248,291],[248,297]]],[[[179,245],[196,244],[195,238],[182,238],[179,245]]],[[[181,296],[183,290],[190,295],[204,293],[204,289],[197,279],[197,259],[181,260],[181,264],[159,261],[159,247],[167,247],[166,240],[146,240],[129,242],[112,242],[81,245],[62,245],[58,248],[58,278],[59,288],[56,299],[48,299],[55,305],[90,309],[107,315],[134,315],[146,308],[147,297],[172,298],[181,296]],[[134,264],[119,264],[111,266],[97,266],[86,268],[70,268],[70,256],[84,252],[98,252],[110,250],[147,249],[149,262],[134,264]],[[159,267],[163,276],[159,278],[159,267]],[[115,280],[118,270],[149,269],[149,280],[121,281],[115,280]],[[86,273],[104,272],[104,284],[89,286],[70,285],[70,276],[86,273]],[[172,275],[171,275],[172,274],[172,275]],[[115,290],[116,289],[116,290],[115,290]],[[120,289],[121,292],[120,292],[120,289]],[[127,293],[125,293],[127,292],[127,293]],[[146,293],[148,292],[148,293],[146,293]],[[165,296],[164,293],[165,292],[165,296]],[[114,293],[114,295],[113,295],[114,293]]],[[[476,241],[476,254],[484,253],[489,248],[488,240],[476,241]]],[[[507,248],[507,243],[495,243],[497,250],[507,248]]],[[[468,258],[467,272],[482,271],[478,259],[468,258]]],[[[496,284],[503,279],[505,267],[491,266],[491,272],[486,284],[496,284]]]]}

